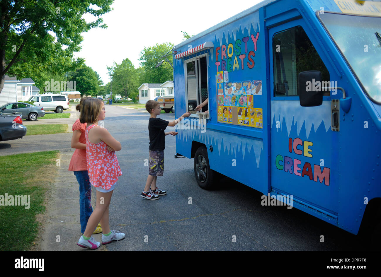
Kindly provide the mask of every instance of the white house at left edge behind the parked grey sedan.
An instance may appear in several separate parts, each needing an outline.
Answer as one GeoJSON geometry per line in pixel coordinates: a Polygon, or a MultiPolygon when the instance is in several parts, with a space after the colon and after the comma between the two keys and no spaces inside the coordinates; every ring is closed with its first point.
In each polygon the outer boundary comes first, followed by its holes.
{"type": "Polygon", "coordinates": [[[34,86],[31,78],[17,80],[16,77],[5,76],[4,87],[0,93],[0,105],[10,102],[26,101],[40,90],[34,86]]]}

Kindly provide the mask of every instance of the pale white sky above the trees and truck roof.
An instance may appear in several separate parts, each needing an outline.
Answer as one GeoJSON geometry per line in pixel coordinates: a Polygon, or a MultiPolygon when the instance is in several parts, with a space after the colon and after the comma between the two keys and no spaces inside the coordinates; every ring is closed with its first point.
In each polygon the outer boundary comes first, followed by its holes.
{"type": "MultiPolygon", "coordinates": [[[[114,10],[101,16],[108,27],[83,33],[82,50],[74,56],[84,58],[105,84],[110,81],[106,67],[114,61],[119,64],[128,58],[137,68],[140,52],[145,47],[165,42],[176,45],[184,39],[182,31],[197,35],[259,2],[115,0],[111,5],[114,10]]],[[[83,18],[87,22],[95,19],[89,14],[83,18]]]]}

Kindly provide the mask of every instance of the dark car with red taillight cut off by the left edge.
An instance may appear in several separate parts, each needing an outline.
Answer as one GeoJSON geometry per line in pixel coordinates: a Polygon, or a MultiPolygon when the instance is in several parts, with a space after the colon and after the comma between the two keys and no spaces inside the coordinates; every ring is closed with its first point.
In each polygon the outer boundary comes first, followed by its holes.
{"type": "Polygon", "coordinates": [[[6,115],[0,111],[0,141],[21,139],[26,134],[19,115],[6,115]]]}

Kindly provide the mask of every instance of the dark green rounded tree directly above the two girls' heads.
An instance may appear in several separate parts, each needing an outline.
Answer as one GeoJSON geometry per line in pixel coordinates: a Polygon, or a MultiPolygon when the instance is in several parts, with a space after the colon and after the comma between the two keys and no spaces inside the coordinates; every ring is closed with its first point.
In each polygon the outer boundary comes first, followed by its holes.
{"type": "Polygon", "coordinates": [[[96,72],[86,65],[75,70],[73,80],[76,82],[77,91],[83,94],[96,97],[99,92],[98,76],[96,72]]]}

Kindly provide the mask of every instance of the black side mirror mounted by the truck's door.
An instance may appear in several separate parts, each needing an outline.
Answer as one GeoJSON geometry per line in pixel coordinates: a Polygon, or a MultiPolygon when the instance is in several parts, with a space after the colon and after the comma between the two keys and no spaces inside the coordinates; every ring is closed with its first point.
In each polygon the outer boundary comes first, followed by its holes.
{"type": "Polygon", "coordinates": [[[299,101],[302,107],[322,105],[322,72],[316,70],[300,72],[298,89],[299,101]]]}

